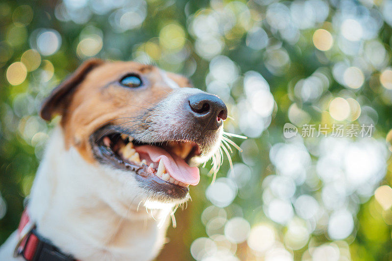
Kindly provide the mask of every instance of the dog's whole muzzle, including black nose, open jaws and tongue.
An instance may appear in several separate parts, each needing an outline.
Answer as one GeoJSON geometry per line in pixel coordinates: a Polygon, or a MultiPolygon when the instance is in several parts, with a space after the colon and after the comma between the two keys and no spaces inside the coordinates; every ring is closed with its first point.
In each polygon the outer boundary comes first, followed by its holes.
{"type": "Polygon", "coordinates": [[[136,124],[97,130],[91,137],[96,158],[136,173],[140,186],[160,199],[185,198],[200,180],[196,166],[219,148],[226,105],[218,96],[180,88],[136,118],[136,124]]]}

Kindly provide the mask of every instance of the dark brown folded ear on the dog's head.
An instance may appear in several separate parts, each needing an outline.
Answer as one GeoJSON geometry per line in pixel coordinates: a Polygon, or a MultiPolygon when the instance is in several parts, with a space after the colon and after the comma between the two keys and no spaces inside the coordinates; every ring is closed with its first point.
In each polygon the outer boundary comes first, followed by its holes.
{"type": "Polygon", "coordinates": [[[50,120],[53,115],[62,115],[66,109],[66,104],[71,97],[75,87],[78,86],[86,77],[86,75],[103,64],[104,61],[96,58],[89,59],[83,62],[76,71],[71,74],[65,81],[57,86],[48,98],[44,101],[41,107],[40,116],[42,119],[50,120]]]}

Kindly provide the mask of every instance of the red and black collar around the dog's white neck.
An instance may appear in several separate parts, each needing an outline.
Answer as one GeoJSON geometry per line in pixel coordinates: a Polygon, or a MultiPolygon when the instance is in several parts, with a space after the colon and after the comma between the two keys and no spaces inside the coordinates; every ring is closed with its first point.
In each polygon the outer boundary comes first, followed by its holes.
{"type": "Polygon", "coordinates": [[[42,237],[31,222],[27,209],[23,211],[18,226],[18,243],[14,257],[22,256],[26,261],[76,261],[55,247],[50,240],[42,237]]]}

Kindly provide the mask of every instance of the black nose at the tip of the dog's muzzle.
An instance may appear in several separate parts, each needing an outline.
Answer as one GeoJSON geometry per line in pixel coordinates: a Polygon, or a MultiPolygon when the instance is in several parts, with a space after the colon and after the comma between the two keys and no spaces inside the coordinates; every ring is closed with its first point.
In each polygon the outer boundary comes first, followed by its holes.
{"type": "Polygon", "coordinates": [[[227,107],[215,95],[196,94],[188,98],[189,109],[197,121],[208,129],[218,129],[227,119],[227,107]]]}

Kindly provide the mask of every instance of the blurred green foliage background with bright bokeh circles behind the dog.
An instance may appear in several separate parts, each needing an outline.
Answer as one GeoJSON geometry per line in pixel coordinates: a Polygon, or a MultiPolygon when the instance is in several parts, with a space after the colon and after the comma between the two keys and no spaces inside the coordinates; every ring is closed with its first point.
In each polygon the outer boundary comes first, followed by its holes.
{"type": "Polygon", "coordinates": [[[41,101],[95,56],[190,77],[249,137],[214,184],[202,169],[160,260],[391,260],[391,14],[391,0],[2,0],[0,243],[56,124],[41,101]]]}

